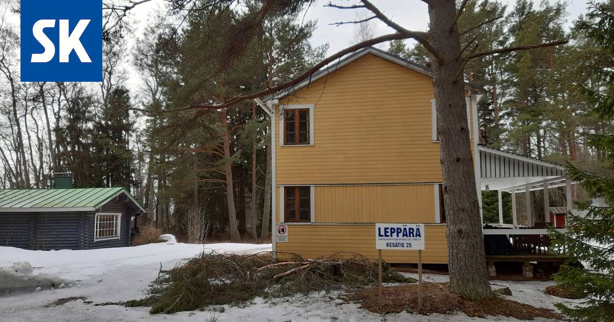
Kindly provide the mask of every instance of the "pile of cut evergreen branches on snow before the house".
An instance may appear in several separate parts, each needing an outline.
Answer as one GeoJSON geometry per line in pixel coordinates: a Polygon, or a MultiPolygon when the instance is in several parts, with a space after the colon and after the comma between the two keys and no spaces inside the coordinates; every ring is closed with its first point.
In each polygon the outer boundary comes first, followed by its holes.
{"type": "MultiPolygon", "coordinates": [[[[254,297],[284,297],[315,291],[375,286],[378,263],[356,253],[304,259],[292,253],[255,255],[201,254],[160,270],[149,296],[128,301],[128,307],[150,306],[150,313],[203,309],[209,305],[236,305],[254,297]]],[[[412,278],[383,267],[383,282],[413,283],[412,278]]]]}

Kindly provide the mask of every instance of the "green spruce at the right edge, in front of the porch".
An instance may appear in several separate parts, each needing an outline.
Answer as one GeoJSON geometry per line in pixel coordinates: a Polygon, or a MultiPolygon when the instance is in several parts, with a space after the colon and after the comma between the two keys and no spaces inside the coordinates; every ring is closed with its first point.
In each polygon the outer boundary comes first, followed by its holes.
{"type": "MultiPolygon", "coordinates": [[[[592,3],[586,18],[579,20],[576,29],[586,34],[602,49],[594,59],[596,83],[580,84],[588,101],[596,107],[594,113],[604,121],[614,116],[614,1],[592,3]]],[[[592,134],[588,145],[607,151],[607,162],[614,170],[614,135],[592,134]]],[[[592,196],[614,201],[614,178],[601,177],[568,166],[570,177],[592,196]]],[[[614,208],[578,204],[579,213],[568,214],[567,232],[551,229],[554,249],[568,256],[555,279],[564,289],[585,297],[580,305],[557,304],[566,315],[578,320],[614,320],[614,208]]]]}

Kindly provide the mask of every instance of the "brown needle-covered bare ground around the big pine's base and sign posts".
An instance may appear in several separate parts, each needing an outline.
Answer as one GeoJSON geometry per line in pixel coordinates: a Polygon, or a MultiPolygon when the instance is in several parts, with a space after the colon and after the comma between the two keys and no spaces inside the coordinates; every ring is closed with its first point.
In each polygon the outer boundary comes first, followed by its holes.
{"type": "Polygon", "coordinates": [[[468,316],[508,316],[520,320],[550,318],[562,320],[553,310],[541,309],[501,297],[488,300],[468,301],[462,296],[449,293],[440,283],[422,284],[422,310],[418,310],[418,285],[389,286],[383,289],[382,306],[378,306],[378,288],[365,288],[346,294],[344,299],[359,302],[360,307],[375,313],[400,313],[403,311],[428,315],[430,313],[453,314],[463,312],[468,316]]]}

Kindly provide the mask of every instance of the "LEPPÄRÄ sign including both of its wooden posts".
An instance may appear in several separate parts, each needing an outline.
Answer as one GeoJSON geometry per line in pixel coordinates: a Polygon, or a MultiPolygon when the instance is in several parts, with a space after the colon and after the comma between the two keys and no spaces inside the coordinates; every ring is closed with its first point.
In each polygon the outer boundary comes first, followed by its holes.
{"type": "Polygon", "coordinates": [[[422,310],[422,250],[424,224],[375,224],[375,248],[379,258],[378,307],[382,308],[382,250],[418,251],[418,310],[422,310]]]}

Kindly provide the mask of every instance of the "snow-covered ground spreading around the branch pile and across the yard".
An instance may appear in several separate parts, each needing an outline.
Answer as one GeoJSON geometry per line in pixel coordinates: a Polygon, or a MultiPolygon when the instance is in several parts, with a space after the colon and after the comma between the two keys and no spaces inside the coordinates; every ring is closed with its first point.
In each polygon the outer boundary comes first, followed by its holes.
{"type": "MultiPolygon", "coordinates": [[[[72,281],[72,287],[33,289],[20,293],[0,294],[0,321],[516,321],[503,317],[468,318],[463,314],[412,315],[399,313],[377,315],[359,308],[358,304],[337,299],[336,294],[313,294],[265,301],[255,299],[247,307],[219,307],[212,311],[179,312],[172,315],[150,315],[149,308],[126,308],[120,305],[95,305],[139,299],[144,289],[157,277],[160,266],[169,269],[177,261],[201,253],[217,251],[252,254],[268,251],[270,244],[214,243],[155,243],[137,247],[102,250],[31,251],[0,247],[0,267],[16,262],[28,262],[33,274],[47,274],[72,281]],[[52,305],[57,299],[85,297],[62,305],[52,305]],[[91,303],[87,303],[90,302],[91,303]],[[222,312],[223,311],[223,312],[222,312]]],[[[407,274],[417,277],[416,274],[407,274]]],[[[445,282],[445,275],[424,274],[426,282],[445,282]]],[[[0,279],[0,288],[3,280],[0,279]]],[[[68,284],[66,284],[68,286],[68,284]]],[[[564,301],[543,293],[551,282],[493,281],[494,288],[509,287],[511,299],[538,307],[553,308],[564,301]]],[[[565,300],[567,301],[567,300],[565,300]]],[[[537,320],[540,321],[540,320],[537,320]]]]}

